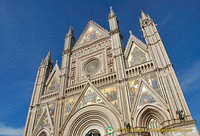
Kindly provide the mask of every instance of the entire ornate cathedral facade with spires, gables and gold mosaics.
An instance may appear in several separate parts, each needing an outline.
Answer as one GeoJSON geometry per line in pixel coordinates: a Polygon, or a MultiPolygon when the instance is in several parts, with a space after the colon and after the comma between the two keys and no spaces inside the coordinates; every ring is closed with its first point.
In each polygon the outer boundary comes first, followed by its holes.
{"type": "Polygon", "coordinates": [[[66,34],[62,64],[42,60],[24,136],[199,136],[156,25],[141,13],[145,43],[125,49],[110,8],[110,31],[90,20],[66,34]]]}

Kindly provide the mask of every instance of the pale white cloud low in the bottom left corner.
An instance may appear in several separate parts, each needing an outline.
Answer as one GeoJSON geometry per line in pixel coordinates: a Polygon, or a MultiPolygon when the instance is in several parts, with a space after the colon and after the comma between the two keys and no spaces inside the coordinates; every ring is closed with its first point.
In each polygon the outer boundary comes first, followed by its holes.
{"type": "Polygon", "coordinates": [[[0,123],[0,135],[3,136],[22,136],[24,128],[13,128],[0,123]]]}

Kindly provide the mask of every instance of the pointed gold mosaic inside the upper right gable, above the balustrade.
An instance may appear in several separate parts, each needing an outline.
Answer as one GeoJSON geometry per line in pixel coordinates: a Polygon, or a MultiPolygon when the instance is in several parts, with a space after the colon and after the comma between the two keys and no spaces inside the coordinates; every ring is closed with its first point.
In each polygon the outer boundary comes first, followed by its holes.
{"type": "Polygon", "coordinates": [[[138,64],[142,64],[147,61],[145,53],[142,52],[138,47],[133,46],[128,58],[129,65],[135,66],[138,64]]]}

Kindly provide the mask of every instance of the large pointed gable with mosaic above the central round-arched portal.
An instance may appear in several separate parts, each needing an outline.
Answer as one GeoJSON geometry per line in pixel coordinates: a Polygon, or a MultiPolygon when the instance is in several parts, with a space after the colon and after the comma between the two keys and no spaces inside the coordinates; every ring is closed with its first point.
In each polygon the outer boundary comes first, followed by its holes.
{"type": "Polygon", "coordinates": [[[83,92],[81,93],[80,97],[74,104],[72,110],[70,110],[70,113],[66,117],[65,121],[63,122],[63,125],[61,126],[64,127],[71,116],[81,108],[91,105],[91,104],[102,104],[105,106],[108,106],[111,108],[117,115],[120,115],[119,111],[114,107],[113,104],[111,104],[105,97],[104,95],[88,80],[86,86],[83,89],[83,92]],[[87,100],[88,99],[88,100],[87,100]]]}

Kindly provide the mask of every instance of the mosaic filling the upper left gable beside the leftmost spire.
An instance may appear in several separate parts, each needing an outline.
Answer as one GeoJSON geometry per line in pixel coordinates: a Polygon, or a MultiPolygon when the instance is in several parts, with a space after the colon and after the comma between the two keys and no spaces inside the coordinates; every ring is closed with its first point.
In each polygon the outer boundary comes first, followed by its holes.
{"type": "Polygon", "coordinates": [[[58,91],[59,86],[60,86],[60,78],[58,74],[55,73],[49,85],[47,86],[46,94],[58,91]]]}

